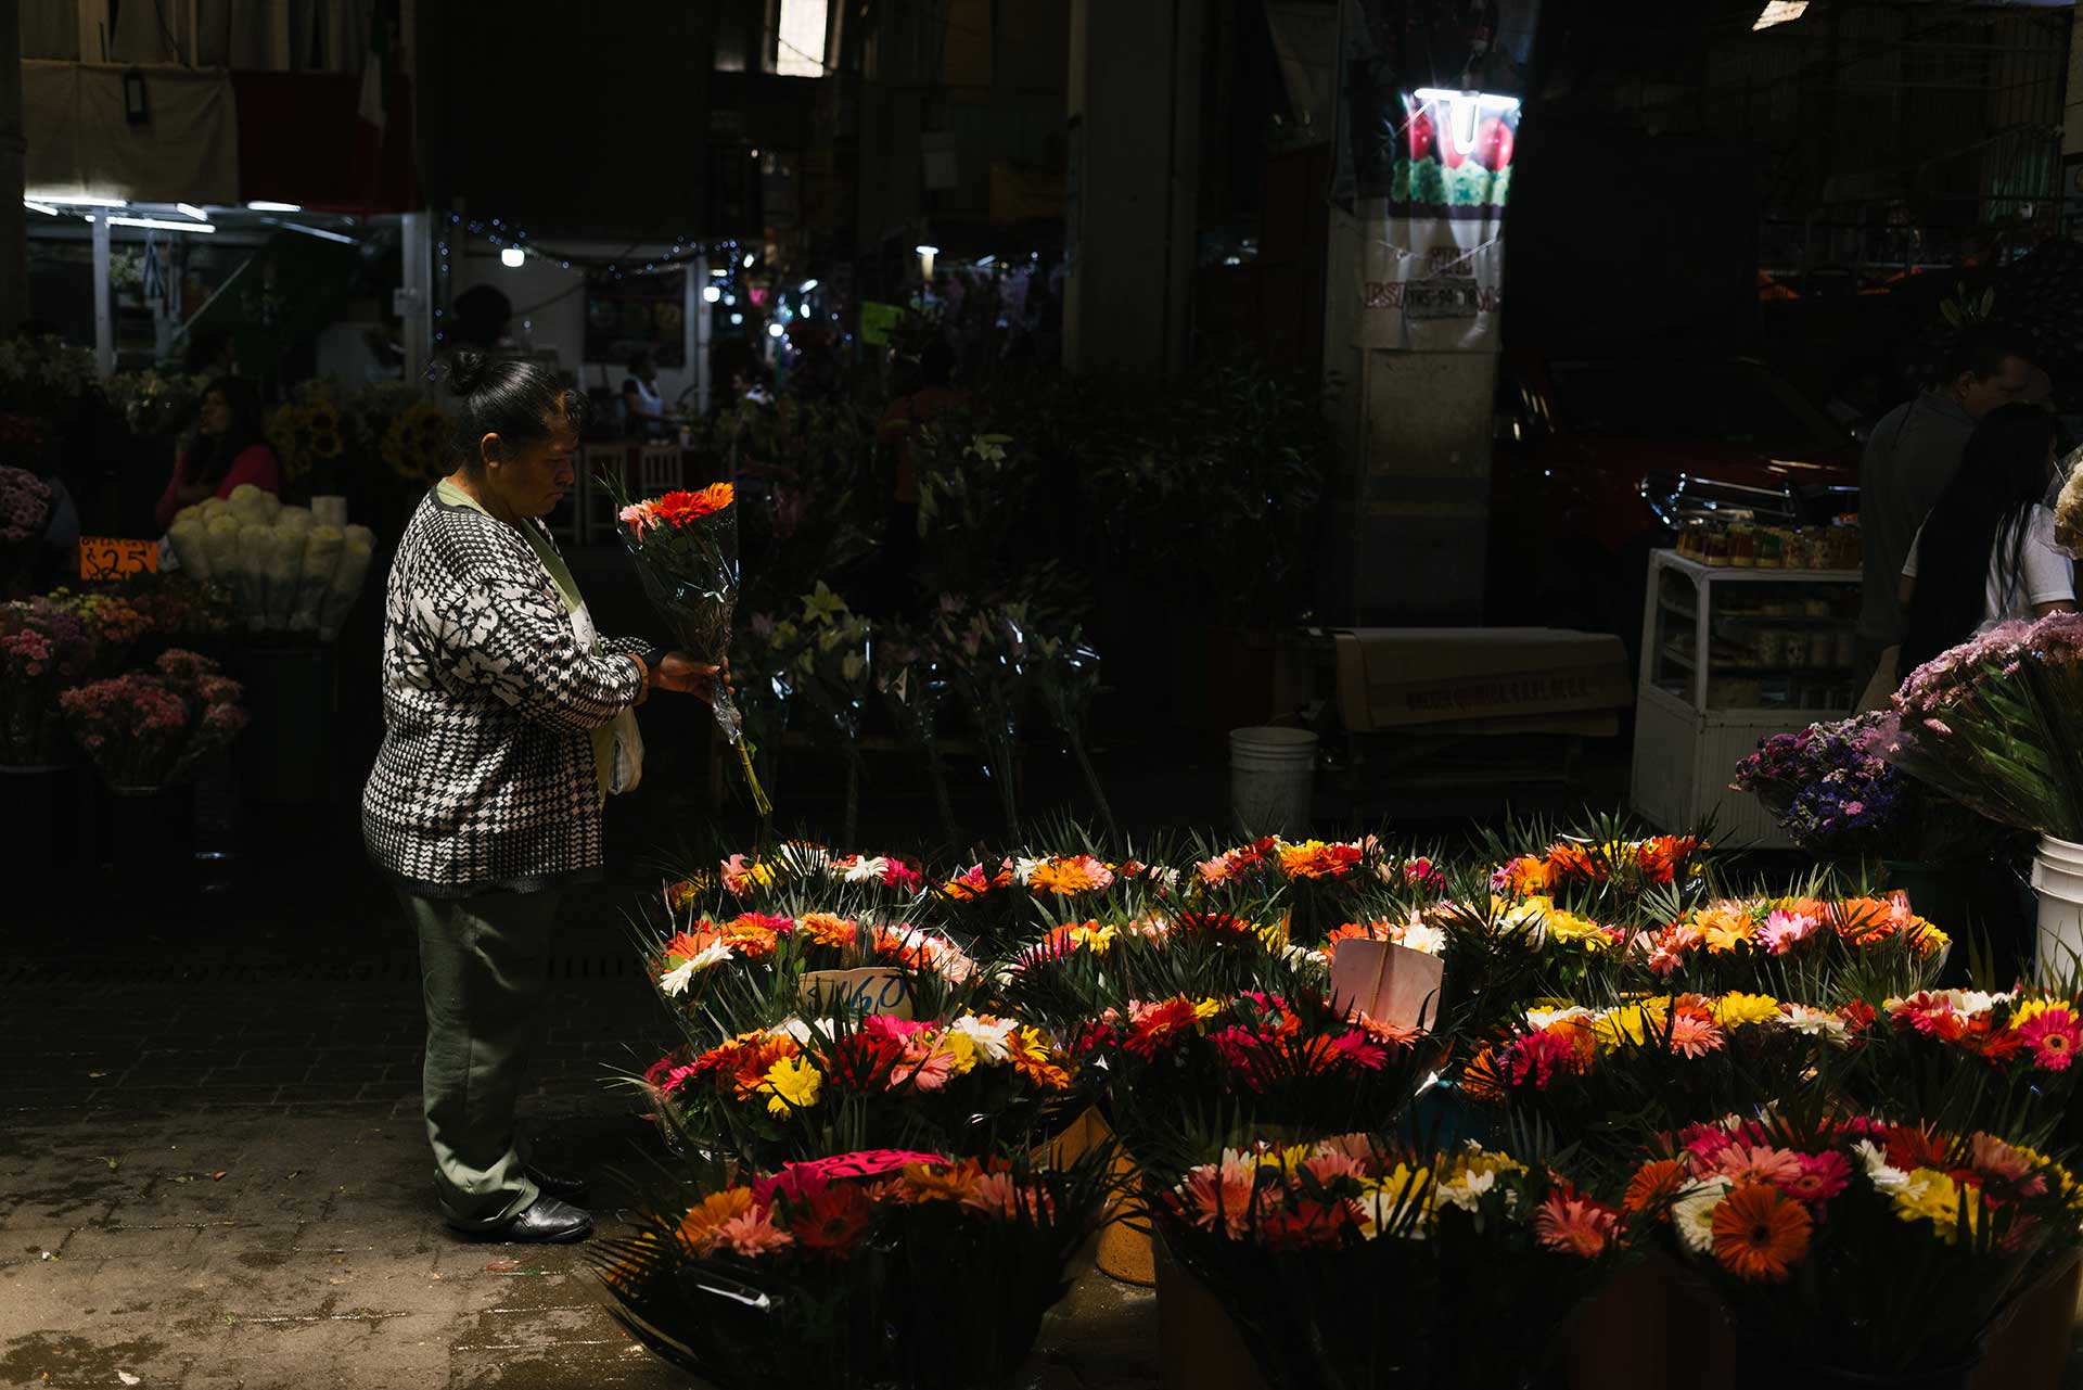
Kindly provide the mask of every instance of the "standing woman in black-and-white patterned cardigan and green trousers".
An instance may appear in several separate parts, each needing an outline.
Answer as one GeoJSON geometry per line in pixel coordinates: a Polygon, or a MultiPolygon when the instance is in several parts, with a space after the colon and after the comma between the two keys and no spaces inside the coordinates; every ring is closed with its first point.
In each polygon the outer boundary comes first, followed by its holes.
{"type": "Polygon", "coordinates": [[[581,1184],[515,1130],[558,894],[600,873],[600,804],[633,786],[617,723],[717,667],[600,638],[542,517],[573,486],[583,396],[529,361],[448,363],[454,471],[412,513],[383,602],[369,857],[419,929],[427,1140],[442,1215],[492,1240],[581,1240],[581,1184]]]}

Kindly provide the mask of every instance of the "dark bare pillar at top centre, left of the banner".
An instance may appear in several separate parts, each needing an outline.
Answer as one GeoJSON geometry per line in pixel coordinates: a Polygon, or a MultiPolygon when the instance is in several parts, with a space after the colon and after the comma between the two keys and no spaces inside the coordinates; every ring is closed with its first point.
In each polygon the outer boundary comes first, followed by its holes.
{"type": "Polygon", "coordinates": [[[1171,377],[1191,331],[1204,0],[1073,0],[1062,352],[1171,377]]]}

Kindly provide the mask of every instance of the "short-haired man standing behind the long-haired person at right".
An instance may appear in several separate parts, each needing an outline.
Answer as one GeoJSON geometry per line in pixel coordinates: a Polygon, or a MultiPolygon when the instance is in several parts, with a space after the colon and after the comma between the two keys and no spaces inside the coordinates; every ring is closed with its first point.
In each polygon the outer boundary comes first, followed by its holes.
{"type": "MultiPolygon", "coordinates": [[[[1858,656],[1864,675],[1893,688],[1889,650],[1902,642],[1898,586],[1916,527],[1960,471],[1975,423],[2021,400],[2033,363],[2025,338],[2002,323],[1977,323],[1954,340],[1939,386],[1896,406],[1873,427],[1858,469],[1858,525],[1864,548],[1864,590],[1858,611],[1858,656]]],[[[2046,483],[2041,483],[2043,488],[2046,483]]]]}

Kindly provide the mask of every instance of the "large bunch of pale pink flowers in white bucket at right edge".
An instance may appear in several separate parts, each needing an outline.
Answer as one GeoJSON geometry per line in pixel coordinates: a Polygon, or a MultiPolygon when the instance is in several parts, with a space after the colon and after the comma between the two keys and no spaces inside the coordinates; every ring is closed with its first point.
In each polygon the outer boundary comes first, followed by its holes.
{"type": "Polygon", "coordinates": [[[1887,756],[2004,825],[2083,840],[2083,615],[2002,623],[1916,667],[1887,756]]]}

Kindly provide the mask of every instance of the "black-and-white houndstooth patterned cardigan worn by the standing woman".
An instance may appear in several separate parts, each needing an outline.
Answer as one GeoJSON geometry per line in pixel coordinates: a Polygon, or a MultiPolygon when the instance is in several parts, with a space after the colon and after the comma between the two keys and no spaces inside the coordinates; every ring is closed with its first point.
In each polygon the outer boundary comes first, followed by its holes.
{"type": "Polygon", "coordinates": [[[608,638],[581,652],[527,538],[429,492],[383,590],[385,734],[362,790],[371,861],[410,892],[450,898],[598,871],[589,729],[637,700],[623,656],[644,648],[608,638]]]}

